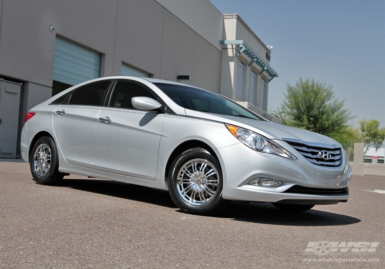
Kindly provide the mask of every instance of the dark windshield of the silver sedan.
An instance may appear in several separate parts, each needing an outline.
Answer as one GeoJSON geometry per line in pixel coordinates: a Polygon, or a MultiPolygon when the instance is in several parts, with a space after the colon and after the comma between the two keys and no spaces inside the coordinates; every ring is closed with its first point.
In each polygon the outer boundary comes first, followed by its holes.
{"type": "Polygon", "coordinates": [[[219,94],[167,83],[154,83],[179,106],[196,111],[263,120],[257,114],[219,94]]]}

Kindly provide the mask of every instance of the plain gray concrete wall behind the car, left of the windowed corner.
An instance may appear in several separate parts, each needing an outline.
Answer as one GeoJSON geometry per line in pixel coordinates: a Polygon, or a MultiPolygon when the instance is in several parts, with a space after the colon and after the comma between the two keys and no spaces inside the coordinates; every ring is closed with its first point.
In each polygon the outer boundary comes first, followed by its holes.
{"type": "Polygon", "coordinates": [[[208,0],[0,3],[2,77],[51,88],[58,35],[102,54],[101,76],[120,75],[125,63],[156,78],[190,75],[189,84],[219,92],[223,15],[208,0]]]}

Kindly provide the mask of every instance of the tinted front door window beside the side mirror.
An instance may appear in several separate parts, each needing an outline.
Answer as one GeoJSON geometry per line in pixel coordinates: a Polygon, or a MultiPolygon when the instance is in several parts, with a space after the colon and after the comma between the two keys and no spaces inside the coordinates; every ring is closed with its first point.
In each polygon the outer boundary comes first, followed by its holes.
{"type": "Polygon", "coordinates": [[[149,89],[134,81],[118,81],[113,89],[109,107],[133,108],[131,98],[138,96],[150,97],[155,100],[159,99],[149,89]]]}

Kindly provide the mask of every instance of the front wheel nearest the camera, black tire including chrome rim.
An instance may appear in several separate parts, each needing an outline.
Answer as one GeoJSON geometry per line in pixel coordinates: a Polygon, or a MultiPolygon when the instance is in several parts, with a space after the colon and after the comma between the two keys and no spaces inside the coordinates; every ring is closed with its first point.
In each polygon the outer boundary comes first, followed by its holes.
{"type": "Polygon", "coordinates": [[[179,155],[171,165],[167,184],[172,201],[184,212],[213,215],[225,205],[219,161],[205,149],[179,155]]]}

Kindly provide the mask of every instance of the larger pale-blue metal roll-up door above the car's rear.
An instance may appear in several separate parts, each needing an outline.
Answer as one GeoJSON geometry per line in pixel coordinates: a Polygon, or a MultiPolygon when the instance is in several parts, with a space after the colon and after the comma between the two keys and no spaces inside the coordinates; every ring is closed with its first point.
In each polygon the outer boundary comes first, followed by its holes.
{"type": "Polygon", "coordinates": [[[68,85],[100,77],[101,55],[90,49],[56,37],[53,80],[68,85]]]}

